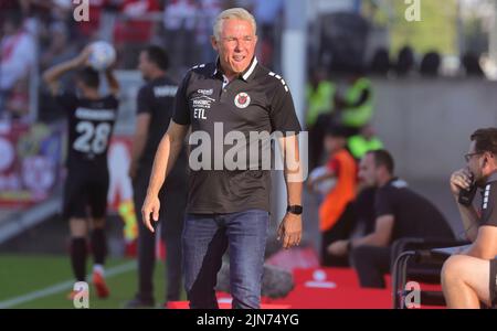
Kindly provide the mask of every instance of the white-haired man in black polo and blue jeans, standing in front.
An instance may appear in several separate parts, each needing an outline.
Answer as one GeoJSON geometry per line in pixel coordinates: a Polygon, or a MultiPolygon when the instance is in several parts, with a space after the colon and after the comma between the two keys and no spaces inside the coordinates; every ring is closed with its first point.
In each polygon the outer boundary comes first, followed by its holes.
{"type": "Polygon", "coordinates": [[[285,248],[300,242],[300,126],[285,81],[257,63],[256,42],[255,20],[244,9],[230,9],[218,17],[212,45],[219,58],[194,66],[180,85],[175,116],[159,145],[142,206],[144,222],[154,231],[150,214],[157,221],[157,194],[191,128],[183,229],[184,282],[191,308],[218,307],[214,287],[228,247],[233,307],[260,307],[271,168],[265,167],[267,158],[263,156],[267,143],[252,143],[254,132],[282,134],[277,142],[285,154],[288,207],[278,235],[285,248]],[[239,140],[246,143],[232,147],[239,140]],[[233,153],[236,161],[226,162],[233,153]],[[254,154],[258,157],[254,159],[254,154]],[[293,167],[287,167],[290,159],[293,167]]]}

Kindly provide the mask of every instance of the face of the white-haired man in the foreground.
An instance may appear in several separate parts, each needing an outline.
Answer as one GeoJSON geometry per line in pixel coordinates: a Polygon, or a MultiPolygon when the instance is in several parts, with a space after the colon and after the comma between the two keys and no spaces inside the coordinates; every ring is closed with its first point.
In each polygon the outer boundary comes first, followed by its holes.
{"type": "Polygon", "coordinates": [[[240,19],[223,20],[219,40],[212,38],[212,46],[228,77],[240,75],[250,66],[256,44],[257,36],[251,22],[240,19]]]}

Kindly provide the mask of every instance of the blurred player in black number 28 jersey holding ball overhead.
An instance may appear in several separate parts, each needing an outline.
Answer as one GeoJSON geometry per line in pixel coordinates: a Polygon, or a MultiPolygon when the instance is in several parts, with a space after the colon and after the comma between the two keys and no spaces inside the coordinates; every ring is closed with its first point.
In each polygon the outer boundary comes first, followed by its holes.
{"type": "MultiPolygon", "coordinates": [[[[112,70],[105,75],[110,94],[99,94],[99,73],[87,66],[91,49],[67,62],[49,68],[43,79],[68,117],[67,178],[64,188],[63,217],[71,229],[71,263],[76,281],[85,281],[88,234],[94,257],[93,284],[97,296],[109,295],[104,279],[107,254],[105,216],[109,174],[107,150],[117,117],[119,85],[112,70]],[[60,88],[59,78],[76,70],[76,93],[60,88]]],[[[70,293],[70,298],[74,297],[70,293]]]]}

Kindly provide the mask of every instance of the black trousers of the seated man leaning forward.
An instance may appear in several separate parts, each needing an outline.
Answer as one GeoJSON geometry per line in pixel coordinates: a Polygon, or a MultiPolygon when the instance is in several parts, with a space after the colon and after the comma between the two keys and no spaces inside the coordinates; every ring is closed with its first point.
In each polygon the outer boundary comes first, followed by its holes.
{"type": "Polygon", "coordinates": [[[390,271],[390,247],[359,246],[352,249],[352,265],[361,287],[385,288],[383,276],[390,271]]]}

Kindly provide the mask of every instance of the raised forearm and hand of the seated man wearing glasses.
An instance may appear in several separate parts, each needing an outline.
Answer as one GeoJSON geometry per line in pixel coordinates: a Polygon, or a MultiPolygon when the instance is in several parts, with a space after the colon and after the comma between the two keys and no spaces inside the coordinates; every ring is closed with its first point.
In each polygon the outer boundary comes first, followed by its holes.
{"type": "Polygon", "coordinates": [[[467,169],[457,170],[451,175],[451,191],[459,210],[466,236],[474,242],[478,235],[478,214],[473,205],[465,206],[458,203],[461,190],[468,189],[470,184],[470,174],[467,169]]]}

